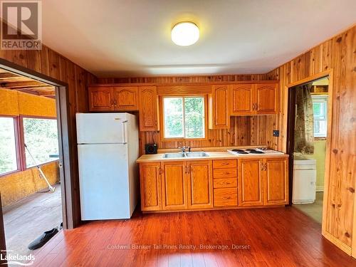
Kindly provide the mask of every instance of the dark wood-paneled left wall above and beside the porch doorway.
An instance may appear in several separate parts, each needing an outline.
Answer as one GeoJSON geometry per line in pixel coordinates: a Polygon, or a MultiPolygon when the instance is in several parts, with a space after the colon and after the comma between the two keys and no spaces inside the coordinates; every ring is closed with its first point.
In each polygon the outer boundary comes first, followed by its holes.
{"type": "MultiPolygon", "coordinates": [[[[87,70],[76,65],[67,58],[61,56],[50,48],[43,46],[41,51],[0,50],[0,58],[16,63],[19,66],[35,70],[68,84],[69,116],[68,133],[73,140],[70,153],[77,157],[75,145],[75,112],[88,111],[88,91],[86,87],[90,83],[96,83],[97,78],[87,70]]],[[[72,170],[72,194],[73,194],[73,219],[74,226],[80,223],[79,179],[78,164],[75,160],[72,170]]]]}

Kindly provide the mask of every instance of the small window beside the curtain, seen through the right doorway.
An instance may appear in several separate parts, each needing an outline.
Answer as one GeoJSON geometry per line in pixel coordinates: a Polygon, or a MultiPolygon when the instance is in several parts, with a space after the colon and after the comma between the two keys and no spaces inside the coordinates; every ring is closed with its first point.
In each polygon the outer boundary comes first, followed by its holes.
{"type": "Polygon", "coordinates": [[[312,95],[314,137],[326,137],[328,130],[328,95],[312,95]]]}

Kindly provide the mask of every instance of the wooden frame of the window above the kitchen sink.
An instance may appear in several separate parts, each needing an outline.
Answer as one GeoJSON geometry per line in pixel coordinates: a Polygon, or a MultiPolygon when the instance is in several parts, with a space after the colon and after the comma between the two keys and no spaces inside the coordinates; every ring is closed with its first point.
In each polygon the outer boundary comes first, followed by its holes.
{"type": "MultiPolygon", "coordinates": [[[[161,141],[162,142],[184,142],[184,141],[203,141],[208,139],[208,105],[207,105],[207,95],[202,94],[189,94],[189,95],[159,95],[159,122],[162,125],[161,132],[161,141]],[[164,137],[164,98],[204,98],[204,137],[199,138],[185,138],[185,137],[164,137]]],[[[183,108],[183,130],[185,135],[185,110],[183,108]]]]}

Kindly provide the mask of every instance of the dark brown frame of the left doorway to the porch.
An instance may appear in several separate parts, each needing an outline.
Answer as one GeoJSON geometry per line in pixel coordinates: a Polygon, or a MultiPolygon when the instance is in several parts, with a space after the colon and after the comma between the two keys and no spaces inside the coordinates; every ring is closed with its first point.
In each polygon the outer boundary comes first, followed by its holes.
{"type": "MultiPolygon", "coordinates": [[[[61,199],[63,214],[63,229],[73,229],[78,224],[78,215],[75,214],[74,181],[71,179],[75,172],[74,156],[70,154],[70,147],[75,144],[75,140],[70,135],[73,125],[70,123],[69,112],[69,92],[68,83],[51,78],[34,70],[24,68],[10,61],[0,58],[0,68],[9,70],[13,73],[23,75],[33,80],[38,80],[49,85],[53,85],[56,90],[56,110],[58,124],[58,148],[59,148],[59,169],[61,177],[61,199]]],[[[4,234],[4,224],[2,220],[2,209],[0,206],[0,236],[4,234]]],[[[5,247],[0,240],[0,248],[5,247]]]]}

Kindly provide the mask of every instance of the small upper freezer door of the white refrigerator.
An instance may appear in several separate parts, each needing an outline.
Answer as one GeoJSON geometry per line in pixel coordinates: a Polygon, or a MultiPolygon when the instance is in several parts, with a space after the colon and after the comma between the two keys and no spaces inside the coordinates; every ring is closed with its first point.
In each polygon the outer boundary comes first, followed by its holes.
{"type": "Polygon", "coordinates": [[[127,142],[127,113],[77,113],[78,144],[127,142]]]}

